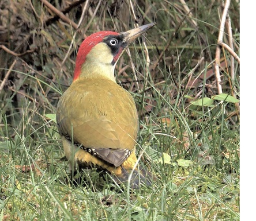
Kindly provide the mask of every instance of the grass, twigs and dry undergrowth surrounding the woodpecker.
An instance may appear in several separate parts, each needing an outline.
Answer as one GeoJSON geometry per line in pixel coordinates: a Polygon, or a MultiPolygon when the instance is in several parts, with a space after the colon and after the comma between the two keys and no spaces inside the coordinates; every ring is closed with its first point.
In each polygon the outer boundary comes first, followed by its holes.
{"type": "Polygon", "coordinates": [[[239,5],[220,29],[220,0],[1,0],[0,220],[239,220],[239,5]],[[88,171],[74,185],[53,119],[77,49],[150,22],[116,81],[134,96],[140,163],[157,180],[130,191],[88,171]]]}

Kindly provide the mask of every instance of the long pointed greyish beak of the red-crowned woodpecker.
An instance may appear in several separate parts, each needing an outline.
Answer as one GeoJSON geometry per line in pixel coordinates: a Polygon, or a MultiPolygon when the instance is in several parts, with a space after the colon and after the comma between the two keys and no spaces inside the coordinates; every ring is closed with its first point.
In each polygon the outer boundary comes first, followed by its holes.
{"type": "Polygon", "coordinates": [[[122,32],[121,34],[123,34],[124,36],[123,43],[125,43],[126,46],[128,46],[131,42],[135,40],[135,38],[141,36],[141,34],[145,33],[148,29],[152,28],[155,25],[156,23],[154,22],[154,23],[140,26],[138,28],[131,29],[127,32],[122,32]]]}

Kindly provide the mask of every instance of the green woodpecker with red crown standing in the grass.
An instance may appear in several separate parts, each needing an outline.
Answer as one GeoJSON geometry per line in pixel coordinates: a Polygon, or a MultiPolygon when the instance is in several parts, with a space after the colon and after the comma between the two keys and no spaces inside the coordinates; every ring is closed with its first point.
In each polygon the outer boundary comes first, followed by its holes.
{"type": "Polygon", "coordinates": [[[138,165],[138,114],[130,92],[116,83],[115,65],[127,46],[156,23],[126,32],[91,34],[78,48],[73,82],[57,104],[56,120],[70,170],[97,168],[133,189],[152,185],[138,165]]]}

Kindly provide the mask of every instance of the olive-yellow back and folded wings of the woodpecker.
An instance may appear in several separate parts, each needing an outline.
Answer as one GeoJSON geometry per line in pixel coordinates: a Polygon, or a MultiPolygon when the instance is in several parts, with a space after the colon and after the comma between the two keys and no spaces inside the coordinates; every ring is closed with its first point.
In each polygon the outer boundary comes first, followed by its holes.
{"type": "Polygon", "coordinates": [[[57,123],[61,135],[84,148],[96,149],[114,165],[122,164],[137,138],[138,116],[132,96],[112,80],[100,77],[71,84],[59,100],[57,123]]]}

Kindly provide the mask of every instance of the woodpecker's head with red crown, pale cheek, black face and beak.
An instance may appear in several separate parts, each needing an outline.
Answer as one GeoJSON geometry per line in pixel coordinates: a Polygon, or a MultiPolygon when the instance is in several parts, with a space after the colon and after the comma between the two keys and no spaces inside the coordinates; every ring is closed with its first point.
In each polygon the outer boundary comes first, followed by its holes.
{"type": "Polygon", "coordinates": [[[73,81],[80,77],[108,77],[115,82],[114,68],[127,46],[156,23],[127,32],[103,31],[86,37],[77,53],[73,81]]]}

